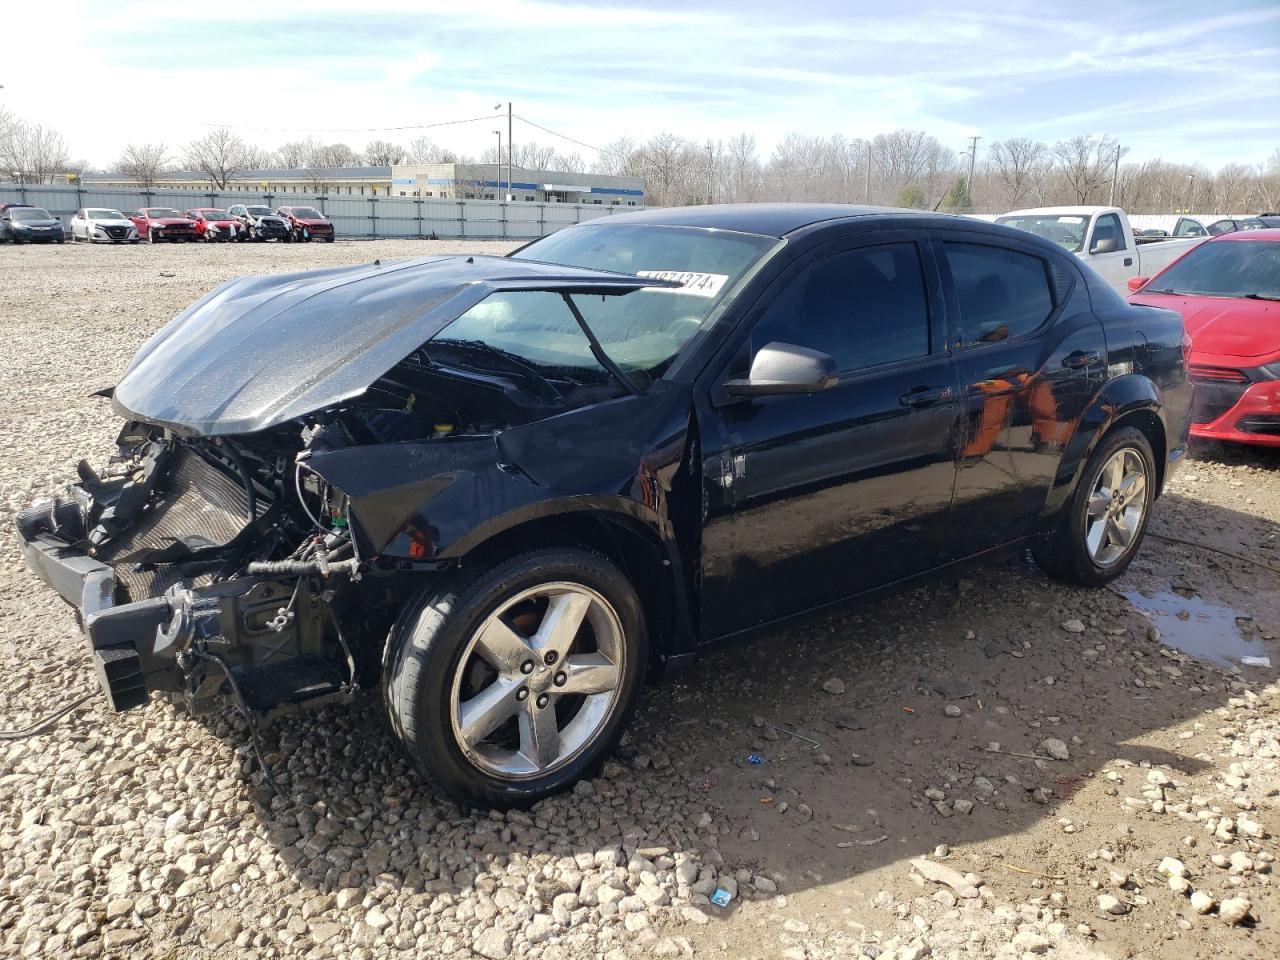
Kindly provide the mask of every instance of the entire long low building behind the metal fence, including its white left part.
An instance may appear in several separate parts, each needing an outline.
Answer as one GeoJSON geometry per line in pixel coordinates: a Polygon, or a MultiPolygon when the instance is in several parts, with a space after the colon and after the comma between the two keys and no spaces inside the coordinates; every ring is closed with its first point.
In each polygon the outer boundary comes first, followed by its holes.
{"type": "MultiPolygon", "coordinates": [[[[79,179],[84,187],[136,189],[141,186],[122,173],[86,173],[79,179]]],[[[645,202],[644,180],[639,177],[529,170],[517,166],[511,179],[508,189],[507,168],[503,165],[499,174],[497,164],[397,164],[244,170],[233,174],[227,188],[261,192],[276,198],[288,193],[305,193],[308,197],[324,195],[451,200],[494,200],[509,196],[515,204],[593,206],[644,206],[645,202]]],[[[168,170],[156,177],[155,187],[198,191],[210,188],[209,178],[197,170],[168,170]]]]}

